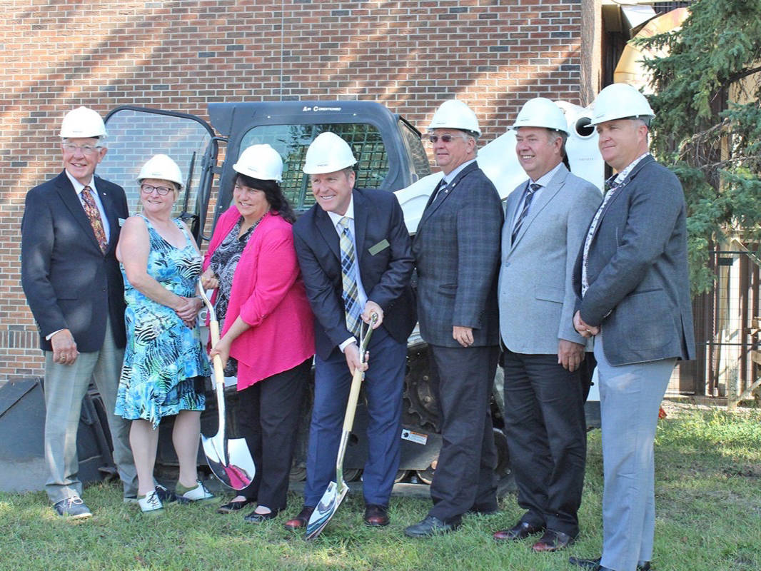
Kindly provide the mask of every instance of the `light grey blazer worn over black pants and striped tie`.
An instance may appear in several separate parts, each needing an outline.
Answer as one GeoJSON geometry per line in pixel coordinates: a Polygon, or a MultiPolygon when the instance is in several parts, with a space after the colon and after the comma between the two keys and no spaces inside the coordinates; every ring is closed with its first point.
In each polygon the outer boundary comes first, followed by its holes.
{"type": "Polygon", "coordinates": [[[586,344],[573,327],[576,254],[597,207],[600,190],[561,165],[531,203],[512,241],[527,183],[507,199],[499,269],[499,331],[513,352],[554,355],[558,340],[586,344]]]}

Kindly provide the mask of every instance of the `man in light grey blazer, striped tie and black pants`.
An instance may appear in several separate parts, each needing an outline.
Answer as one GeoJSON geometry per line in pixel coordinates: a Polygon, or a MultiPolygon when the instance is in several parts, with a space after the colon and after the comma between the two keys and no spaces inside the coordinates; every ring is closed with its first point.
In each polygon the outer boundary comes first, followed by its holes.
{"type": "Polygon", "coordinates": [[[518,113],[518,161],[529,175],[507,199],[499,268],[499,331],[505,348],[505,434],[526,512],[497,540],[543,531],[534,551],[556,551],[578,535],[587,451],[586,340],[573,327],[573,268],[600,190],[562,162],[568,123],[537,97],[518,113]]]}

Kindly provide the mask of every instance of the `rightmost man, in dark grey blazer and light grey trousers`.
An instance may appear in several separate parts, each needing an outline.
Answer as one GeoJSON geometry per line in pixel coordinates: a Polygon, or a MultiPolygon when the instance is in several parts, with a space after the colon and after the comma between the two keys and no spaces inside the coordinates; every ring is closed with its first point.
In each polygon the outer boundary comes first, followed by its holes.
{"type": "Polygon", "coordinates": [[[686,206],[677,177],[648,153],[648,101],[626,84],[594,103],[607,183],[575,267],[576,330],[594,336],[603,432],[603,554],[585,569],[650,569],[653,441],[677,359],[693,359],[686,206]]]}

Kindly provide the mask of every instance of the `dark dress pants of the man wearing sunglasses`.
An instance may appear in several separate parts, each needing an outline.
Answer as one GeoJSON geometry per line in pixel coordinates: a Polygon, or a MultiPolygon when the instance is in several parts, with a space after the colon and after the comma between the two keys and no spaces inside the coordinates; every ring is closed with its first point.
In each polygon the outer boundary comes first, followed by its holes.
{"type": "Polygon", "coordinates": [[[489,399],[499,348],[431,346],[431,352],[439,375],[442,445],[428,514],[456,523],[473,506],[497,507],[489,399]]]}

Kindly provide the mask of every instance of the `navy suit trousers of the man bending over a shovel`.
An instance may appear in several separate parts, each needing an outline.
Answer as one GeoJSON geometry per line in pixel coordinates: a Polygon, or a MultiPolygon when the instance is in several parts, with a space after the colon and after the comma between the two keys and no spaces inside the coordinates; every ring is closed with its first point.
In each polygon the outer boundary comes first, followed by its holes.
{"type": "MultiPolygon", "coordinates": [[[[368,461],[362,474],[365,503],[387,506],[399,469],[402,435],[402,391],[407,346],[381,325],[368,346],[365,372],[368,400],[368,461]]],[[[328,484],[336,479],[336,456],[341,441],[352,375],[336,347],[328,359],[314,358],[314,408],[309,430],[307,483],[304,504],[317,506],[328,484]]]]}

